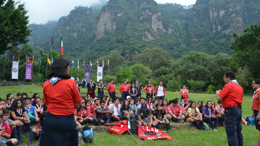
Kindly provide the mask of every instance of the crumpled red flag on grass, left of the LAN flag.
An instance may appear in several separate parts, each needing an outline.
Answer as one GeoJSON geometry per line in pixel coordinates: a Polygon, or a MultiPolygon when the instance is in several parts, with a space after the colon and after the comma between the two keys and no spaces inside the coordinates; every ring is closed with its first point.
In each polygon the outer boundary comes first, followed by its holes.
{"type": "Polygon", "coordinates": [[[123,134],[126,130],[130,129],[130,123],[127,120],[109,123],[106,126],[110,130],[110,134],[123,134]]]}

